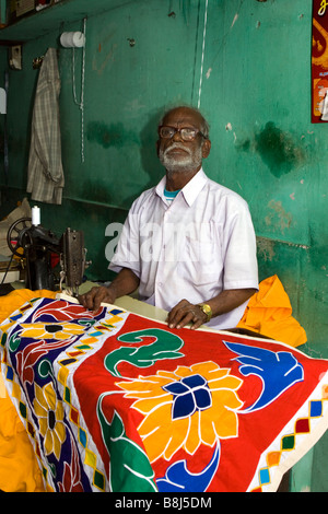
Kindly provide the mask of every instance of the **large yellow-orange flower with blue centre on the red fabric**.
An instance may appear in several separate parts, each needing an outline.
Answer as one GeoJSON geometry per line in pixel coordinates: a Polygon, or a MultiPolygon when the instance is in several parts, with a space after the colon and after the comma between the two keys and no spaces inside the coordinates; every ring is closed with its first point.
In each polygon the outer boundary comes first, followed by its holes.
{"type": "Polygon", "coordinates": [[[132,407],[144,414],[138,431],[154,462],[161,456],[168,460],[179,448],[194,454],[200,444],[236,436],[242,383],[230,370],[204,362],[117,385],[127,398],[137,398],[132,407]]]}

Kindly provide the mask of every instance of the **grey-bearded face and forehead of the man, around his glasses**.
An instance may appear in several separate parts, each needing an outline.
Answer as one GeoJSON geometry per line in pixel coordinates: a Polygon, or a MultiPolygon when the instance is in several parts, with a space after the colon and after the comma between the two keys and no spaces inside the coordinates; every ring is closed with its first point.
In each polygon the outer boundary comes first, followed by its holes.
{"type": "MultiPolygon", "coordinates": [[[[201,117],[197,112],[180,107],[169,112],[163,119],[163,126],[173,128],[190,128],[201,131],[201,117]]],[[[160,138],[157,143],[159,157],[168,173],[195,172],[201,167],[202,159],[207,157],[210,141],[200,133],[191,141],[184,141],[176,132],[171,139],[160,138]]]]}

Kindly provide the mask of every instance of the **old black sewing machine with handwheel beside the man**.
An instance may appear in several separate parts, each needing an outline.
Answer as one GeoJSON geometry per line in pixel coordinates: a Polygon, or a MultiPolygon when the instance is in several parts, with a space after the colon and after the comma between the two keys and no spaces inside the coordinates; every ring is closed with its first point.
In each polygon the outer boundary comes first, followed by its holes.
{"type": "Polygon", "coordinates": [[[9,229],[7,243],[13,255],[21,258],[27,289],[56,291],[65,283],[78,296],[84,269],[90,264],[85,261],[83,232],[67,229],[57,237],[40,224],[33,224],[31,218],[21,218],[9,229]]]}

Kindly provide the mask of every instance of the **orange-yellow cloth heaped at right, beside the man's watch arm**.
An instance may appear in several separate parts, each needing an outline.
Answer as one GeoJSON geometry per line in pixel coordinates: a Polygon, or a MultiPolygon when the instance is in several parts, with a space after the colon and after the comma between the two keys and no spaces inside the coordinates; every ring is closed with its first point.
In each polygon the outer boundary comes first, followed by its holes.
{"type": "Polygon", "coordinates": [[[277,277],[269,277],[259,284],[245,309],[238,328],[246,328],[291,347],[298,347],[307,341],[306,332],[292,316],[290,299],[277,277]]]}

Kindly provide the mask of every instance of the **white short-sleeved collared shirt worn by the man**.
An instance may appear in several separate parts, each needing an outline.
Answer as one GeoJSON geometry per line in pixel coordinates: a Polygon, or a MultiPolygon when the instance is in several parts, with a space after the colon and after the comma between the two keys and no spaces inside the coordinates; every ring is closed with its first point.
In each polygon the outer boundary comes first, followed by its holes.
{"type": "MultiPolygon", "coordinates": [[[[166,177],[132,205],[109,269],[130,268],[140,300],[171,311],[180,300],[206,302],[225,289],[258,289],[256,238],[246,201],[202,168],[168,202],[166,177]]],[[[208,326],[235,327],[246,303],[208,326]]]]}

